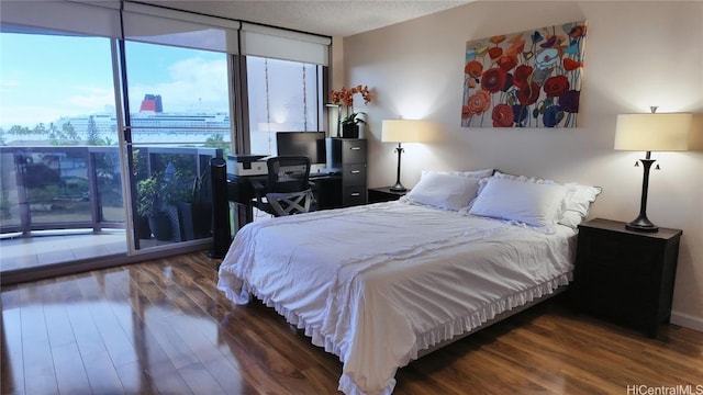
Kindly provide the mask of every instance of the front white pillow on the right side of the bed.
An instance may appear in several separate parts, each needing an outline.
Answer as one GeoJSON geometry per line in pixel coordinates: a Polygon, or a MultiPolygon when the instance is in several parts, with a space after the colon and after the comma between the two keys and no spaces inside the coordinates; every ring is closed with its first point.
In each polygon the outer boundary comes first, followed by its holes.
{"type": "Polygon", "coordinates": [[[561,217],[566,193],[566,187],[559,184],[490,178],[469,214],[550,230],[561,217]]]}

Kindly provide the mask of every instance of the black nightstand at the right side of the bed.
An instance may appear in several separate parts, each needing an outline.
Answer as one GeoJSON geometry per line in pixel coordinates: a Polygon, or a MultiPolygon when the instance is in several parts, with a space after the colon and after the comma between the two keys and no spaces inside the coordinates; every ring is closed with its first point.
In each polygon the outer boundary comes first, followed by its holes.
{"type": "Polygon", "coordinates": [[[656,337],[671,316],[681,234],[632,232],[601,218],[579,225],[576,307],[656,337]]]}

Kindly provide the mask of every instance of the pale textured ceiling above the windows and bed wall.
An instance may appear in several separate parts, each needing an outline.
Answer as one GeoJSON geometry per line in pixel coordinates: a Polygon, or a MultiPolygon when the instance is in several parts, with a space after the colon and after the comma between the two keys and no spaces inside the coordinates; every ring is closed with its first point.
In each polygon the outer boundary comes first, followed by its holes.
{"type": "Polygon", "coordinates": [[[472,0],[141,0],[208,15],[328,36],[350,36],[462,5],[472,0]]]}

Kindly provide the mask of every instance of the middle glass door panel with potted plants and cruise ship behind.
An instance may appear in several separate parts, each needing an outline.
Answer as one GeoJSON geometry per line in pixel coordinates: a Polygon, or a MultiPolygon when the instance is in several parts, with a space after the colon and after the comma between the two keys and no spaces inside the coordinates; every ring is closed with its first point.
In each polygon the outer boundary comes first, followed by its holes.
{"type": "Polygon", "coordinates": [[[125,43],[136,249],[211,237],[209,161],[232,140],[227,56],[125,43]]]}

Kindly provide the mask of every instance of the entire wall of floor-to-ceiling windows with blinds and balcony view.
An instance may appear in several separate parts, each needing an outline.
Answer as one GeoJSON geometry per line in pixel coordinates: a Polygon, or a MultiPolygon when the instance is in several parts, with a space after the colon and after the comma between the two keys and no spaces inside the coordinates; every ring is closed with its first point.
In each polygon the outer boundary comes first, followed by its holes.
{"type": "Polygon", "coordinates": [[[280,125],[323,129],[326,37],[131,1],[0,8],[3,273],[30,256],[60,264],[203,245],[210,158],[275,154],[280,125]],[[79,239],[64,257],[65,241],[32,247],[75,232],[116,241],[79,239]],[[5,260],[10,241],[22,248],[5,260]]]}

